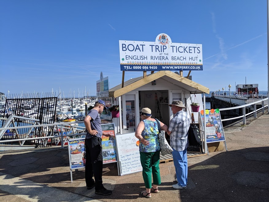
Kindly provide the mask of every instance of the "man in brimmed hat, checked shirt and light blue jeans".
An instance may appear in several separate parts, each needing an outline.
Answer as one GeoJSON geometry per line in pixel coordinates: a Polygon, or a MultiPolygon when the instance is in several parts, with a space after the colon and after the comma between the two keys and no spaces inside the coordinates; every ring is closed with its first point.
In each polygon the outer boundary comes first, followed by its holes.
{"type": "Polygon", "coordinates": [[[173,149],[172,155],[177,176],[177,184],[173,184],[172,187],[174,189],[186,189],[188,184],[188,130],[191,117],[187,112],[183,111],[183,108],[186,107],[182,101],[174,100],[169,106],[174,117],[170,121],[167,134],[170,135],[170,146],[173,149]]]}

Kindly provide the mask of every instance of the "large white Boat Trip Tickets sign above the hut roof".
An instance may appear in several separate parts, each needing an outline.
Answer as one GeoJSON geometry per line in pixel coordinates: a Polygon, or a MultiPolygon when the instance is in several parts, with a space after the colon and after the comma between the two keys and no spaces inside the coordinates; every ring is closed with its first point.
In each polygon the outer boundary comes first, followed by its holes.
{"type": "Polygon", "coordinates": [[[167,34],[155,42],[119,41],[121,71],[203,70],[202,44],[172,43],[167,34]]]}

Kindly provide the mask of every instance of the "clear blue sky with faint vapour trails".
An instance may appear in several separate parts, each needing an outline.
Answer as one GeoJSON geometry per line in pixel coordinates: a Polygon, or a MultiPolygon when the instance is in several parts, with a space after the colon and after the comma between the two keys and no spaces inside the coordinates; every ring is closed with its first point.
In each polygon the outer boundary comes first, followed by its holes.
{"type": "MultiPolygon", "coordinates": [[[[100,72],[121,83],[119,40],[203,46],[193,81],[267,90],[267,4],[257,1],[0,1],[0,92],[96,92],[100,72]]],[[[187,76],[189,71],[184,71],[187,76]]],[[[150,73],[150,72],[148,72],[150,73]]],[[[125,81],[142,76],[126,72],[125,81]]]]}

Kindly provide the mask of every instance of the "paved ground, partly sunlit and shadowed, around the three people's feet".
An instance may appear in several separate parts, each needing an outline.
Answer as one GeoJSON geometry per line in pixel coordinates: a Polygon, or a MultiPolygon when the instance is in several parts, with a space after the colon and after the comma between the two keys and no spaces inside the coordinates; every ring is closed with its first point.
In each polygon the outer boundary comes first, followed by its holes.
{"type": "MultiPolygon", "coordinates": [[[[189,184],[185,190],[172,188],[176,184],[173,162],[160,164],[161,192],[152,193],[150,199],[139,195],[145,189],[142,172],[118,176],[115,163],[103,165],[104,186],[114,190],[111,196],[99,196],[94,194],[94,189],[87,190],[84,169],[73,172],[74,182],[71,183],[67,149],[0,153],[0,158],[0,172],[21,177],[14,184],[2,186],[19,188],[21,194],[33,189],[29,197],[40,201],[46,200],[34,193],[44,192],[48,189],[46,185],[103,201],[269,201],[269,147],[212,152],[207,156],[189,158],[189,184]]],[[[5,181],[12,180],[9,175],[4,178],[5,181]]],[[[57,196],[57,193],[50,196],[57,196]]]]}

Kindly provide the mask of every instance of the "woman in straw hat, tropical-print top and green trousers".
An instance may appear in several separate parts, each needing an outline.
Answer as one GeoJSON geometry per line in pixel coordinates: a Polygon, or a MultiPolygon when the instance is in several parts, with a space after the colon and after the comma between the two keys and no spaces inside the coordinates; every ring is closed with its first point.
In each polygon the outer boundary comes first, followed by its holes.
{"type": "MultiPolygon", "coordinates": [[[[143,108],[140,123],[135,131],[135,137],[140,141],[139,152],[142,165],[142,175],[146,186],[146,191],[142,191],[141,195],[150,198],[150,192],[159,193],[158,185],[161,184],[160,176],[160,142],[158,139],[158,123],[151,118],[151,110],[143,108]],[[153,186],[151,187],[151,173],[153,176],[153,186]]],[[[159,121],[161,129],[167,131],[167,125],[159,121]]]]}

